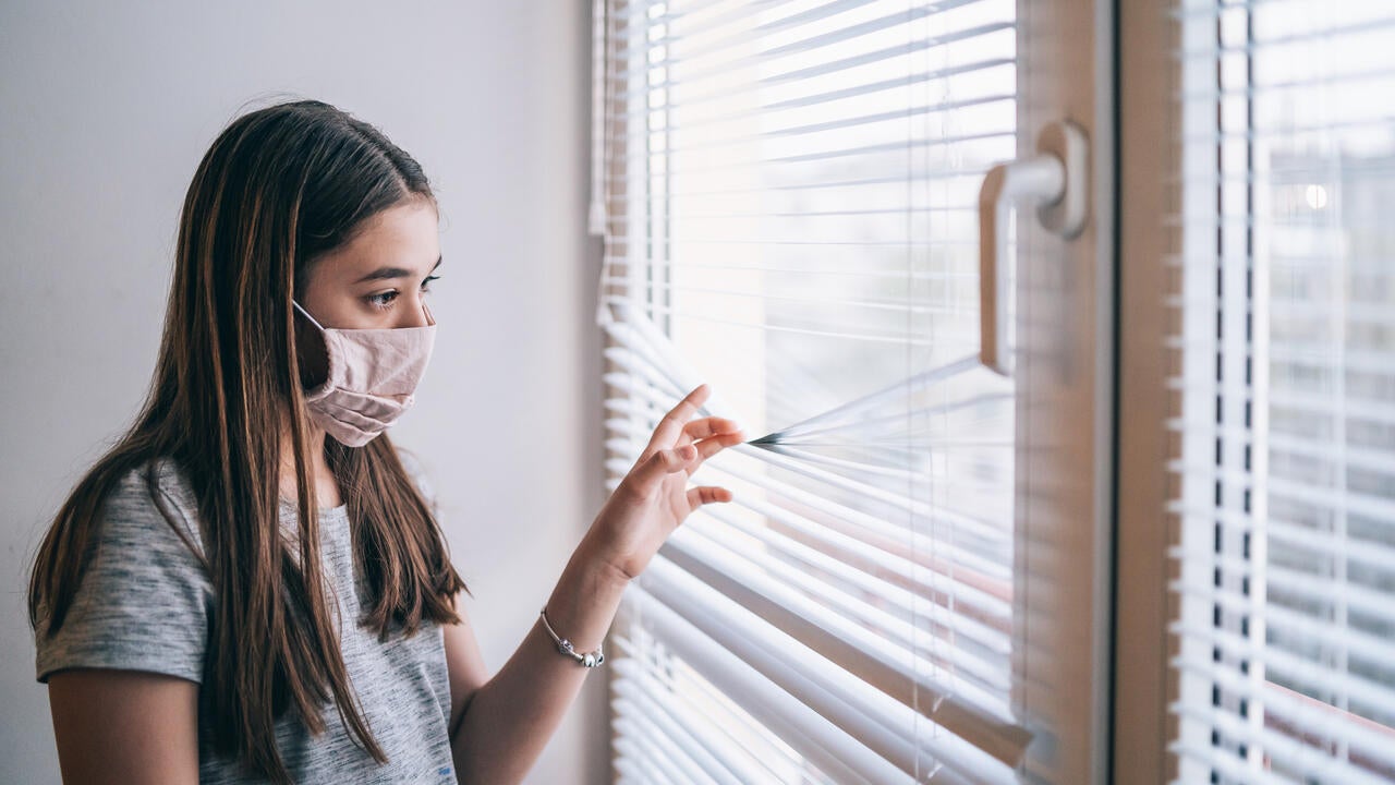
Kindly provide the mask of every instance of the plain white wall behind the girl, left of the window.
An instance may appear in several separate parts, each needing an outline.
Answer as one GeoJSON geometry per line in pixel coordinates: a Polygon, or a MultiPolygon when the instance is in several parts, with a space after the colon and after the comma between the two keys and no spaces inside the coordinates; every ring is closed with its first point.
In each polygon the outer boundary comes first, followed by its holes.
{"type": "MultiPolygon", "coordinates": [[[[498,668],[600,503],[589,3],[0,6],[0,782],[57,782],[28,562],[153,366],[180,201],[273,91],[416,156],[442,207],[441,334],[396,430],[438,486],[498,668]]],[[[600,679],[531,782],[605,778],[600,679]]]]}

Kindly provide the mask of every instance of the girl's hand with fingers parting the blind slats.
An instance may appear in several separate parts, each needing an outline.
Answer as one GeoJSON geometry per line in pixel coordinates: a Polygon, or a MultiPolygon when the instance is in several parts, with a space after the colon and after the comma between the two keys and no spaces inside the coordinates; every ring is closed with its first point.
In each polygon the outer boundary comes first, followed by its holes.
{"type": "Polygon", "coordinates": [[[626,581],[644,570],[689,513],[703,504],[731,501],[725,487],[688,487],[688,478],[703,461],[745,441],[732,420],[691,419],[709,392],[706,384],[699,386],[660,420],[586,534],[583,548],[593,548],[596,557],[626,581]]]}

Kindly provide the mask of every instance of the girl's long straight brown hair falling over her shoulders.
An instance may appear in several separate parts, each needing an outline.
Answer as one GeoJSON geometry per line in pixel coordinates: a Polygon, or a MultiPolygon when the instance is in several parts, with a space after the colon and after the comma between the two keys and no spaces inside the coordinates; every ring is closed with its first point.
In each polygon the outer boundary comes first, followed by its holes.
{"type": "MultiPolygon", "coordinates": [[[[52,636],[98,542],[106,496],[142,467],[153,483],[155,460],[172,458],[198,499],[213,589],[202,690],[211,693],[215,740],[276,782],[290,777],[275,718],[293,708],[321,733],[331,698],[353,738],[386,760],[356,704],[326,601],[292,298],[322,254],[347,243],[367,218],[413,198],[435,201],[417,162],[328,103],[280,103],[230,123],[184,198],[146,402],[68,496],[29,578],[29,623],[52,636]],[[278,524],[286,432],[299,507],[294,553],[278,524]]],[[[325,458],[372,589],[360,623],[386,640],[389,631],[416,633],[423,619],[458,622],[451,601],[465,584],[386,434],[359,448],[325,439],[325,458]]]]}

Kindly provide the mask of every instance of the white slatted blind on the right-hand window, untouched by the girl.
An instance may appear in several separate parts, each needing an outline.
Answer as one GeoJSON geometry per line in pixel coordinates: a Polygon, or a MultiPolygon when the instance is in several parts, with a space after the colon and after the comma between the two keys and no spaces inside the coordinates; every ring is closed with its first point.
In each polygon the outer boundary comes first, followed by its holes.
{"type": "Polygon", "coordinates": [[[1395,781],[1395,6],[1187,0],[1182,782],[1395,781]]]}

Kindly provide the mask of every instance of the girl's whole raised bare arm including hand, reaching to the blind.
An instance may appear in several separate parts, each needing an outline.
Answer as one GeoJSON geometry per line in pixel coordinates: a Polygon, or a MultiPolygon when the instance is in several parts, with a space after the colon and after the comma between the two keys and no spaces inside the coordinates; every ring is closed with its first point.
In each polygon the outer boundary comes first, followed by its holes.
{"type": "MultiPolygon", "coordinates": [[[[688,487],[706,458],[742,440],[731,420],[689,422],[706,397],[699,387],[664,418],[562,570],[547,617],[576,651],[594,651],[605,638],[625,587],[692,510],[731,500],[725,489],[688,487]]],[[[469,784],[522,781],[589,669],[557,651],[541,620],[488,680],[466,624],[448,627],[445,645],[456,777],[469,784]]]]}

